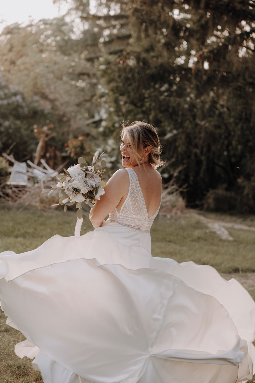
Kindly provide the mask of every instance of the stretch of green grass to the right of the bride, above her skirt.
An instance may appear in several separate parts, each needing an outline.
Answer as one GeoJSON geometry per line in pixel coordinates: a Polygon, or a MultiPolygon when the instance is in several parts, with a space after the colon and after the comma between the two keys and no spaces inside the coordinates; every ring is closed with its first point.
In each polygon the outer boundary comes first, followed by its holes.
{"type": "Polygon", "coordinates": [[[255,232],[227,228],[234,241],[224,241],[191,214],[156,218],[151,231],[152,254],[177,262],[210,265],[219,273],[255,272],[255,232]]]}

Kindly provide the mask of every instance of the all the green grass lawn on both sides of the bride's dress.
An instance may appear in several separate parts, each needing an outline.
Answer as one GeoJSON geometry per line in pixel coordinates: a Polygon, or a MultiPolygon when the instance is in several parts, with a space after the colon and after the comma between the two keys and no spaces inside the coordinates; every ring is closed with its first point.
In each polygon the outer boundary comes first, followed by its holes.
{"type": "MultiPolygon", "coordinates": [[[[255,216],[203,215],[255,226],[255,216]]],[[[75,212],[69,211],[67,217],[62,208],[38,211],[0,205],[0,217],[0,252],[25,252],[40,246],[54,234],[71,236],[76,223],[75,212]]],[[[84,223],[81,234],[90,230],[93,230],[91,224],[84,223]]],[[[255,272],[255,232],[233,228],[227,230],[233,241],[220,239],[199,217],[192,214],[171,218],[158,216],[151,230],[152,254],[170,257],[178,262],[192,260],[198,264],[211,265],[220,273],[255,272]]],[[[250,286],[248,291],[255,299],[253,287],[250,286]]],[[[31,360],[26,357],[21,360],[14,354],[15,344],[24,337],[19,331],[6,326],[5,320],[0,311],[0,383],[42,383],[41,374],[31,367],[31,360]]],[[[255,376],[251,382],[255,383],[255,376]]]]}

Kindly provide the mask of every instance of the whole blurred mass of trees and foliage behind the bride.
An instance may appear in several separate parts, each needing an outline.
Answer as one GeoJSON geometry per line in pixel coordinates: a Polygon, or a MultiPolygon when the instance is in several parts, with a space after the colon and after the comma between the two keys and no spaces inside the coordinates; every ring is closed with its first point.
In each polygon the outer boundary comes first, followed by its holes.
{"type": "Polygon", "coordinates": [[[33,125],[50,123],[59,151],[102,149],[111,173],[120,122],[143,120],[164,146],[164,181],[182,167],[188,206],[255,213],[255,1],[69,3],[0,36],[1,151],[18,141],[15,158],[32,157],[33,125]]]}

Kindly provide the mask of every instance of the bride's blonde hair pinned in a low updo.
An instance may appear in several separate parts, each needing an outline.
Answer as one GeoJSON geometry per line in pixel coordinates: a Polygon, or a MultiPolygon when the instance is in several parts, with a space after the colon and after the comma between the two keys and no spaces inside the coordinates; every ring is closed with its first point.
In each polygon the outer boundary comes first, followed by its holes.
{"type": "Polygon", "coordinates": [[[164,161],[162,161],[160,157],[162,147],[159,142],[159,136],[156,129],[151,124],[146,124],[143,121],[134,121],[132,124],[125,126],[124,122],[122,122],[121,138],[123,138],[125,133],[128,142],[132,146],[138,165],[140,165],[140,160],[143,159],[143,157],[141,157],[141,152],[147,146],[151,147],[148,162],[154,169],[164,165],[164,161]]]}

